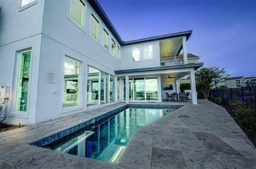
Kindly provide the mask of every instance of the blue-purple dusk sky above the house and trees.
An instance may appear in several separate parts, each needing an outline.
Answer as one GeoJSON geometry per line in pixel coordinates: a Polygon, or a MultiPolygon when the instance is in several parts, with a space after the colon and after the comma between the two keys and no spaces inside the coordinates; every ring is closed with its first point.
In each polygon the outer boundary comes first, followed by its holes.
{"type": "Polygon", "coordinates": [[[193,30],[188,53],[256,77],[256,0],[98,0],[123,41],[193,30]]]}

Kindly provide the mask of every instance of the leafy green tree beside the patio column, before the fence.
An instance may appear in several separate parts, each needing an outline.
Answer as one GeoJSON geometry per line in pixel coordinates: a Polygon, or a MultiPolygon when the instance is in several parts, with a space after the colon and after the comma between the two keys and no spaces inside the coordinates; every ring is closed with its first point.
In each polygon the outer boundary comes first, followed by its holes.
{"type": "Polygon", "coordinates": [[[200,89],[204,95],[204,99],[208,99],[209,92],[212,86],[224,80],[228,76],[224,76],[224,69],[220,70],[219,68],[210,67],[210,68],[200,68],[196,70],[196,86],[200,89]]]}

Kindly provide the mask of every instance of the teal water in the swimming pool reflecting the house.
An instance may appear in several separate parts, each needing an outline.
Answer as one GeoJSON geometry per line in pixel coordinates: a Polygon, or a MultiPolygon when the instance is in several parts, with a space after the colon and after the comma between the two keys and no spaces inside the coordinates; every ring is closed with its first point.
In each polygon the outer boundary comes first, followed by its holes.
{"type": "Polygon", "coordinates": [[[133,133],[174,109],[128,108],[105,121],[96,121],[44,148],[117,163],[133,133]]]}

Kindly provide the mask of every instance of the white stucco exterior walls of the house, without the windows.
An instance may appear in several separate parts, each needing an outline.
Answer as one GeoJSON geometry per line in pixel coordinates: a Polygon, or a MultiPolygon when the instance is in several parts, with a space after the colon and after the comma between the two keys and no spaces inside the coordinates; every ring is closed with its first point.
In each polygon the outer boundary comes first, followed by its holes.
{"type": "MultiPolygon", "coordinates": [[[[126,77],[128,79],[134,77],[156,77],[158,80],[158,101],[165,99],[166,91],[162,90],[162,84],[173,84],[173,90],[168,92],[178,92],[177,79],[168,82],[166,79],[161,78],[161,74],[179,72],[186,72],[187,74],[194,71],[194,68],[179,68],[123,75],[115,74],[115,70],[160,66],[159,40],[121,46],[89,2],[84,0],[82,2],[85,3],[86,12],[84,28],[70,17],[71,0],[38,0],[29,8],[20,8],[20,1],[0,2],[0,85],[10,86],[6,123],[34,124],[85,111],[88,66],[116,76],[116,80],[120,78],[122,86],[126,77]],[[99,22],[99,42],[90,35],[91,14],[99,22]],[[110,36],[109,50],[106,50],[103,46],[103,29],[110,36]],[[111,40],[116,43],[116,56],[111,53],[111,40]],[[143,58],[144,46],[148,45],[153,47],[152,60],[144,60],[143,58]],[[118,47],[121,49],[121,61],[117,58],[118,47]],[[132,48],[136,47],[140,47],[141,60],[134,62],[132,61],[132,48]],[[24,49],[31,50],[31,62],[27,111],[21,112],[14,111],[14,107],[18,53],[24,49]],[[80,104],[69,108],[62,108],[65,56],[81,64],[80,104]],[[49,72],[54,72],[56,82],[47,82],[49,72]]],[[[123,97],[122,87],[120,87],[120,92],[123,97]]],[[[118,101],[122,100],[119,99],[118,101]]],[[[126,101],[129,100],[126,99],[126,101]]]]}

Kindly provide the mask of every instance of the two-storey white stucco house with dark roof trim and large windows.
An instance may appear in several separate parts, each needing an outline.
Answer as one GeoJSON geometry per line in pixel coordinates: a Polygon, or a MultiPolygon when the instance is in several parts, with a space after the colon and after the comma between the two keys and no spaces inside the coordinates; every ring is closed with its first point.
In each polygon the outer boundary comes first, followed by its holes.
{"type": "Polygon", "coordinates": [[[96,0],[1,0],[0,17],[4,123],[161,102],[187,75],[197,104],[194,71],[203,63],[188,59],[191,30],[124,42],[96,0]]]}

